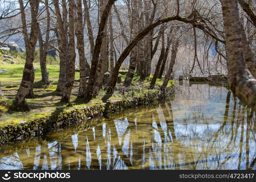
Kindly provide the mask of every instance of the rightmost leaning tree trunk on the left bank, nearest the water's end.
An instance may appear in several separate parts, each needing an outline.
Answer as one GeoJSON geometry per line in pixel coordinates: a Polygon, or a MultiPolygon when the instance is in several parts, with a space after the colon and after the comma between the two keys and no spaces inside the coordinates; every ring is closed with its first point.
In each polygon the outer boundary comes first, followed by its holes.
{"type": "Polygon", "coordinates": [[[162,86],[161,86],[161,91],[162,94],[165,93],[165,88],[167,87],[167,84],[170,80],[170,76],[173,72],[173,66],[175,63],[175,59],[176,59],[176,55],[177,55],[177,51],[178,51],[178,44],[179,44],[179,39],[177,39],[175,42],[173,42],[172,44],[172,55],[171,55],[171,60],[170,60],[170,64],[169,64],[169,68],[167,71],[167,74],[165,75],[165,79],[163,80],[162,86]]]}

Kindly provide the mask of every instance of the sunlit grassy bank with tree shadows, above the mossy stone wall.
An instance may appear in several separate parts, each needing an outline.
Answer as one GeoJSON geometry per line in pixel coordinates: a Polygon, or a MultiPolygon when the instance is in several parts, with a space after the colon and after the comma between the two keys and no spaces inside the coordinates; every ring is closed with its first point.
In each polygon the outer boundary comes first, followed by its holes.
{"type": "MultiPolygon", "coordinates": [[[[3,55],[3,54],[2,54],[3,55]]],[[[0,54],[0,61],[2,55],[0,54]]],[[[16,61],[18,60],[15,58],[16,61]]],[[[136,91],[121,92],[115,91],[113,95],[108,97],[108,100],[103,99],[105,96],[105,91],[100,90],[99,95],[97,95],[90,102],[85,103],[83,100],[76,99],[76,92],[79,90],[79,72],[75,72],[75,84],[72,89],[71,94],[71,105],[61,103],[61,93],[56,92],[58,78],[59,78],[59,66],[58,65],[47,65],[47,70],[49,72],[50,86],[46,87],[42,85],[41,82],[41,70],[38,62],[34,63],[35,70],[35,80],[34,80],[34,98],[27,98],[27,104],[30,107],[30,111],[27,112],[16,112],[12,111],[11,104],[14,101],[15,95],[19,88],[20,82],[22,80],[24,60],[19,59],[18,64],[6,64],[0,62],[0,70],[8,70],[8,72],[0,73],[0,81],[2,84],[2,91],[4,98],[0,99],[0,126],[6,126],[9,124],[16,124],[20,121],[30,120],[35,118],[41,118],[50,113],[56,111],[64,111],[70,108],[79,108],[83,106],[90,106],[93,104],[103,103],[106,101],[114,100],[127,100],[132,99],[134,96],[143,95],[145,92],[148,92],[148,86],[152,79],[152,76],[146,78],[145,80],[139,80],[139,76],[135,75],[132,86],[136,88],[136,91]],[[139,88],[139,89],[138,89],[139,88]]],[[[122,82],[125,79],[125,75],[120,75],[122,82]]],[[[156,86],[160,86],[163,82],[162,79],[157,79],[156,86]]],[[[174,85],[174,81],[170,80],[168,86],[174,85]]],[[[117,86],[121,86],[118,84],[117,86]]],[[[153,89],[151,91],[157,91],[153,89]]]]}

